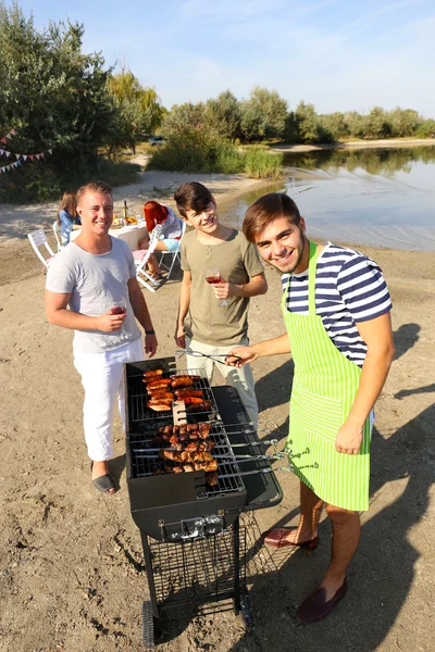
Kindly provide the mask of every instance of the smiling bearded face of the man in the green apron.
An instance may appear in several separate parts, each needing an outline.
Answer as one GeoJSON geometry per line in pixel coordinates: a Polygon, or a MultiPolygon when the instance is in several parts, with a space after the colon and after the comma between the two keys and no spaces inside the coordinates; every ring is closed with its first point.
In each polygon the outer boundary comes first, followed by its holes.
{"type": "Polygon", "coordinates": [[[309,248],[303,217],[298,225],[276,217],[256,238],[261,258],[282,274],[300,274],[308,267],[309,248]]]}

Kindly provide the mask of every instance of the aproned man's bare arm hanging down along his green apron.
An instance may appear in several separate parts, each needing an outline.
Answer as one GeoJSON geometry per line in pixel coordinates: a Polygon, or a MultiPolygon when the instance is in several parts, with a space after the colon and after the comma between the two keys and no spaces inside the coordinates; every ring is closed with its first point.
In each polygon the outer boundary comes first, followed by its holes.
{"type": "Polygon", "coordinates": [[[395,351],[389,312],[357,323],[357,328],[368,346],[368,352],[353,405],[335,440],[339,453],[353,455],[361,448],[364,422],[384,387],[395,351]]]}

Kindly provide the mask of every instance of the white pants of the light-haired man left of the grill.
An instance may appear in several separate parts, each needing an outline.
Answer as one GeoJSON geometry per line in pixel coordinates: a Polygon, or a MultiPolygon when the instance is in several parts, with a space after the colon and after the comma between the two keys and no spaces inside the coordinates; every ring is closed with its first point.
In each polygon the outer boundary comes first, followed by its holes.
{"type": "Polygon", "coordinates": [[[74,366],[85,389],[83,425],[88,455],[96,462],[113,455],[112,416],[115,398],[125,429],[123,365],[144,360],[141,338],[104,353],[74,352],[74,366]]]}

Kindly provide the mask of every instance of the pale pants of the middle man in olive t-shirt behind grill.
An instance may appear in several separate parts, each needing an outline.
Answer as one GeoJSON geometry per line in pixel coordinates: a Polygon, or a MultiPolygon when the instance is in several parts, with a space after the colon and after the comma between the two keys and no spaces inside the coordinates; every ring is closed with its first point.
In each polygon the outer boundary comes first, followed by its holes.
{"type": "MultiPolygon", "coordinates": [[[[240,342],[241,347],[247,347],[248,344],[248,339],[244,339],[240,342]]],[[[206,353],[207,355],[222,355],[229,353],[229,351],[234,349],[234,344],[232,344],[231,347],[213,347],[211,344],[203,344],[202,342],[198,342],[197,340],[189,340],[186,337],[186,349],[190,351],[199,351],[200,353],[206,353]]],[[[215,365],[213,360],[210,360],[209,358],[197,358],[195,355],[189,355],[188,353],[186,353],[186,359],[188,371],[203,371],[211,383],[215,365]]],[[[225,361],[224,358],[220,358],[219,360],[222,360],[222,362],[225,361]]],[[[246,364],[239,369],[236,367],[226,366],[225,364],[219,364],[219,371],[224,376],[227,384],[232,387],[235,387],[238,390],[241,402],[249,414],[249,418],[257,428],[258,404],[256,398],[253,375],[250,364],[246,364]]]]}

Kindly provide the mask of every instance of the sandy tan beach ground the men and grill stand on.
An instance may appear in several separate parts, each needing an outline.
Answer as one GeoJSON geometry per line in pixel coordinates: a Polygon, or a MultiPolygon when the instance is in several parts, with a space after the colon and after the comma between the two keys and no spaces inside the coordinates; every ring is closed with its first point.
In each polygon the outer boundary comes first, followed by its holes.
{"type": "MultiPolygon", "coordinates": [[[[146,199],[171,202],[174,188],[187,178],[191,176],[141,173],[141,183],[115,189],[115,206],[124,199],[134,210],[146,199]]],[[[196,178],[210,187],[221,206],[261,187],[243,176],[196,178]]],[[[139,530],[129,513],[121,422],[116,415],[111,463],[120,490],[104,497],[90,480],[73,335],[46,321],[45,275],[25,237],[32,228],[48,230],[55,208],[0,206],[0,650],[136,652],[141,649],[147,581],[139,530]]],[[[324,622],[298,624],[298,604],[327,566],[331,528],[323,516],[321,543],[311,555],[271,552],[260,544],[264,529],[297,523],[298,482],[283,473],[283,502],[244,517],[254,628],[245,632],[232,612],[198,614],[163,631],[162,652],[433,648],[435,255],[358,249],[378,262],[388,283],[396,359],[376,408],[371,509],[362,517],[348,595],[324,622]]],[[[284,330],[279,277],[272,268],[266,276],[269,292],[251,301],[251,341],[284,330]]],[[[145,290],[159,356],[174,354],[179,280],[177,269],[154,294],[145,290]]],[[[291,373],[288,356],[254,365],[260,418],[276,424],[279,449],[288,429],[291,373]]],[[[215,384],[221,381],[216,375],[215,384]]]]}

